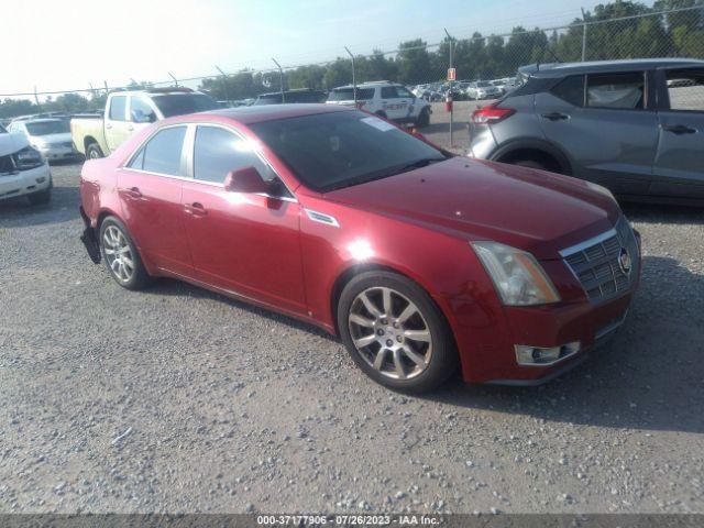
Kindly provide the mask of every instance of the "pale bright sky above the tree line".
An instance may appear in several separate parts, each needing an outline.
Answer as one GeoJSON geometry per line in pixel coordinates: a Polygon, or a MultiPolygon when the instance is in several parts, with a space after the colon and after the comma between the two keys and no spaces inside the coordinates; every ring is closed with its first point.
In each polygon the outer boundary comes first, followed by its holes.
{"type": "Polygon", "coordinates": [[[600,0],[3,0],[0,97],[334,59],[552,28],[600,0]]]}

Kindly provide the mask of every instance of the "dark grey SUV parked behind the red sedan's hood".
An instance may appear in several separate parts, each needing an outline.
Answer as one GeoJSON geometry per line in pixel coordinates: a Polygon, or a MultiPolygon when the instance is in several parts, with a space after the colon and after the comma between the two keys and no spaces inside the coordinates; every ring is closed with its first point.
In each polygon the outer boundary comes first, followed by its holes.
{"type": "Polygon", "coordinates": [[[572,175],[624,199],[704,201],[704,61],[534,65],[519,74],[520,87],[472,114],[470,156],[572,175]]]}

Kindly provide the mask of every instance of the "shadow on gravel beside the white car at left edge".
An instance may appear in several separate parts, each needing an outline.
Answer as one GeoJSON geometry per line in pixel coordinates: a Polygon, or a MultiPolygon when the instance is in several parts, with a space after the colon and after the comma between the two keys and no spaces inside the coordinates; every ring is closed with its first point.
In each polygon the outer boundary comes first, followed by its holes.
{"type": "Polygon", "coordinates": [[[21,196],[0,201],[0,228],[25,228],[46,223],[66,222],[78,218],[78,187],[52,189],[52,201],[45,206],[33,206],[21,196]]]}

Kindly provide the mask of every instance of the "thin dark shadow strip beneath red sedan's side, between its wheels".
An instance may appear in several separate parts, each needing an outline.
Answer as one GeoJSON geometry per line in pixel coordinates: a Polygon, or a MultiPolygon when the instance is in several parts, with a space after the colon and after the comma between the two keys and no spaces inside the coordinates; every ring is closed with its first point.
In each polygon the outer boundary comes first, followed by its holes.
{"type": "Polygon", "coordinates": [[[265,317],[272,321],[287,324],[297,330],[314,333],[321,338],[326,338],[331,342],[338,342],[338,340],[330,336],[328,332],[308,322],[299,321],[298,319],[295,319],[293,317],[278,314],[276,311],[271,311],[265,308],[260,308],[258,306],[233,299],[231,297],[227,297],[226,295],[217,294],[215,292],[210,292],[209,289],[194,286],[191,284],[184,283],[177,279],[160,278],[152,286],[141,292],[141,294],[173,295],[179,297],[193,297],[196,299],[218,300],[232,307],[237,307],[238,309],[246,310],[255,316],[265,317]]]}

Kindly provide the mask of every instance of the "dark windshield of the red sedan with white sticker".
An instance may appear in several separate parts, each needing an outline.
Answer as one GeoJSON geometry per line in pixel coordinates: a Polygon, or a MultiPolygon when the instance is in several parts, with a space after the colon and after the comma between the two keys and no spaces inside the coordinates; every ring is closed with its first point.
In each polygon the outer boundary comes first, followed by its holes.
{"type": "Polygon", "coordinates": [[[307,187],[321,193],[447,157],[383,119],[359,111],[263,121],[250,128],[307,187]]]}

